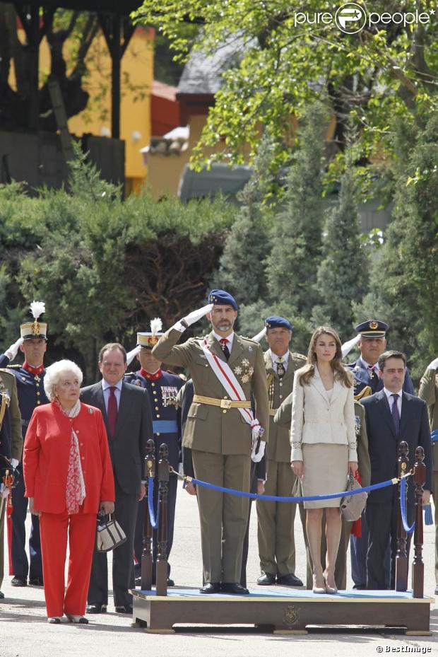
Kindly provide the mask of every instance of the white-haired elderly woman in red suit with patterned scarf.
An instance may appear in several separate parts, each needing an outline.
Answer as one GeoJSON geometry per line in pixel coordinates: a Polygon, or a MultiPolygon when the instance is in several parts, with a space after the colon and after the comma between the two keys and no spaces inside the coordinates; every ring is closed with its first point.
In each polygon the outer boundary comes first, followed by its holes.
{"type": "Polygon", "coordinates": [[[50,404],[35,408],[25,436],[23,470],[31,513],[40,516],[47,617],[83,616],[96,535],[96,514],[114,511],[114,478],[100,410],[79,401],[82,372],[62,360],[46,370],[50,404]],[[67,536],[69,575],[64,592],[67,536]]]}

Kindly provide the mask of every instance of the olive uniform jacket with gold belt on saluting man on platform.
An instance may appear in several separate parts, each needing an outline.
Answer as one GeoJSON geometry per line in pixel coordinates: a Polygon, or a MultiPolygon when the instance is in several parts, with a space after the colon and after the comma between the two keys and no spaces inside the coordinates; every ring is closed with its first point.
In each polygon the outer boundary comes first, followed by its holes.
{"type": "MultiPolygon", "coordinates": [[[[218,380],[198,339],[191,338],[184,344],[176,344],[181,333],[168,330],[152,350],[159,361],[187,367],[194,382],[195,395],[227,399],[227,393],[218,380]]],[[[226,361],[220,344],[213,332],[207,337],[208,348],[221,361],[226,361]]],[[[268,386],[263,351],[257,342],[235,333],[228,365],[242,386],[245,399],[254,394],[256,417],[264,428],[264,441],[268,440],[269,409],[268,386]]],[[[217,406],[192,403],[182,441],[183,447],[214,454],[251,453],[251,427],[244,421],[239,409],[222,409],[217,406]]]]}

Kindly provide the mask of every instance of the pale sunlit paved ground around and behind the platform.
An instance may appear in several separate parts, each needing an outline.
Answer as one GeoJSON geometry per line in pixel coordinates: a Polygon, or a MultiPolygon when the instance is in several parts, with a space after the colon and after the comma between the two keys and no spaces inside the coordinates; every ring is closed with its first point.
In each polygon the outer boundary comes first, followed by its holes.
{"type": "MultiPolygon", "coordinates": [[[[298,515],[298,514],[297,514],[298,515]]],[[[300,521],[295,523],[297,537],[296,573],[305,578],[304,540],[300,521]]],[[[5,550],[7,554],[7,550],[5,550]]],[[[425,595],[434,594],[434,527],[425,528],[425,595]]],[[[200,586],[201,550],[196,499],[180,490],[177,501],[172,577],[178,586],[200,586]]],[[[5,564],[6,573],[8,564],[5,564]]],[[[259,575],[256,542],[256,513],[252,511],[248,565],[250,588],[259,575]]],[[[365,632],[312,632],[305,636],[258,634],[254,629],[214,627],[184,628],[173,635],[145,634],[130,627],[131,620],[108,608],[106,615],[90,616],[88,626],[46,622],[44,594],[41,588],[13,588],[6,576],[0,602],[0,657],[337,657],[373,656],[379,653],[438,654],[438,610],[432,605],[432,636],[365,632]]],[[[348,581],[351,583],[350,577],[348,581]]],[[[349,585],[350,586],[350,585],[349,585]]]]}

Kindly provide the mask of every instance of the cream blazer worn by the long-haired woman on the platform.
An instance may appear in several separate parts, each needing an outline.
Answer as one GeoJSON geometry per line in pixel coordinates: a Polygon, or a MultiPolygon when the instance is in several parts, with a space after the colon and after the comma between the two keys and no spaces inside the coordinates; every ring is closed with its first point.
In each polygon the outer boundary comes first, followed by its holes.
{"type": "Polygon", "coordinates": [[[302,443],[348,445],[348,460],[357,461],[354,388],[335,381],[331,399],[327,395],[318,368],[309,385],[300,385],[295,372],[292,390],[290,443],[292,461],[302,461],[302,443]]]}

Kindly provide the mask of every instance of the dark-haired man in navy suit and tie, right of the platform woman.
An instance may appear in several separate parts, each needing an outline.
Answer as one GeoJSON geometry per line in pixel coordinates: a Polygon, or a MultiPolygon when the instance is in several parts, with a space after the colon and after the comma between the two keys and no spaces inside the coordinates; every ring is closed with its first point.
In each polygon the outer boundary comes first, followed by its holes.
{"type": "MultiPolygon", "coordinates": [[[[415,448],[425,450],[427,467],[423,503],[430,501],[432,489],[432,441],[427,407],[423,400],[403,390],[406,356],[401,351],[385,351],[379,356],[379,376],[384,385],[379,393],[362,400],[365,407],[371,483],[377,484],[397,476],[398,446],[409,446],[410,466],[415,462],[415,448]]],[[[367,588],[386,588],[384,554],[391,540],[391,589],[395,586],[397,550],[398,487],[389,486],[369,494],[365,511],[368,524],[367,588]]],[[[413,521],[414,489],[408,486],[408,523],[413,521]]],[[[408,550],[410,544],[408,535],[408,550]]]]}

